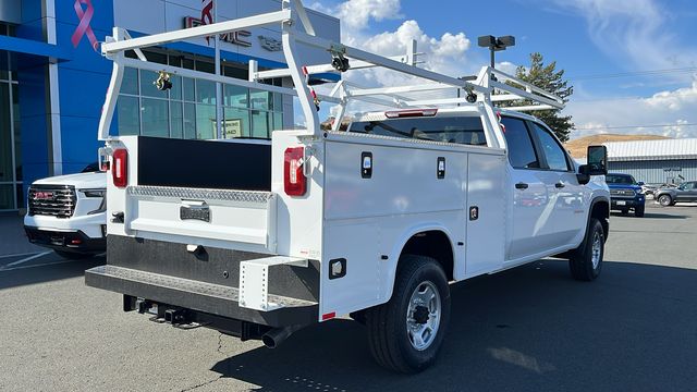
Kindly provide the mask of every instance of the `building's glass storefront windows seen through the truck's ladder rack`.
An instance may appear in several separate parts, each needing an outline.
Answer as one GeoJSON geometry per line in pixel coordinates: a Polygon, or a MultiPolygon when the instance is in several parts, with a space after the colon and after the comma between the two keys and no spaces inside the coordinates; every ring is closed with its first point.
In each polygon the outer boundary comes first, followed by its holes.
{"type": "MultiPolygon", "coordinates": [[[[172,66],[213,72],[212,62],[197,56],[147,51],[146,57],[172,66]]],[[[246,79],[244,64],[224,62],[222,68],[225,75],[246,79]]],[[[272,131],[283,127],[282,95],[223,84],[223,127],[218,135],[215,82],[172,75],[172,88],[160,91],[152,84],[157,77],[157,72],[126,70],[117,109],[119,134],[201,139],[219,136],[269,138],[272,131]]],[[[269,84],[277,82],[280,79],[269,81],[269,84]]]]}

